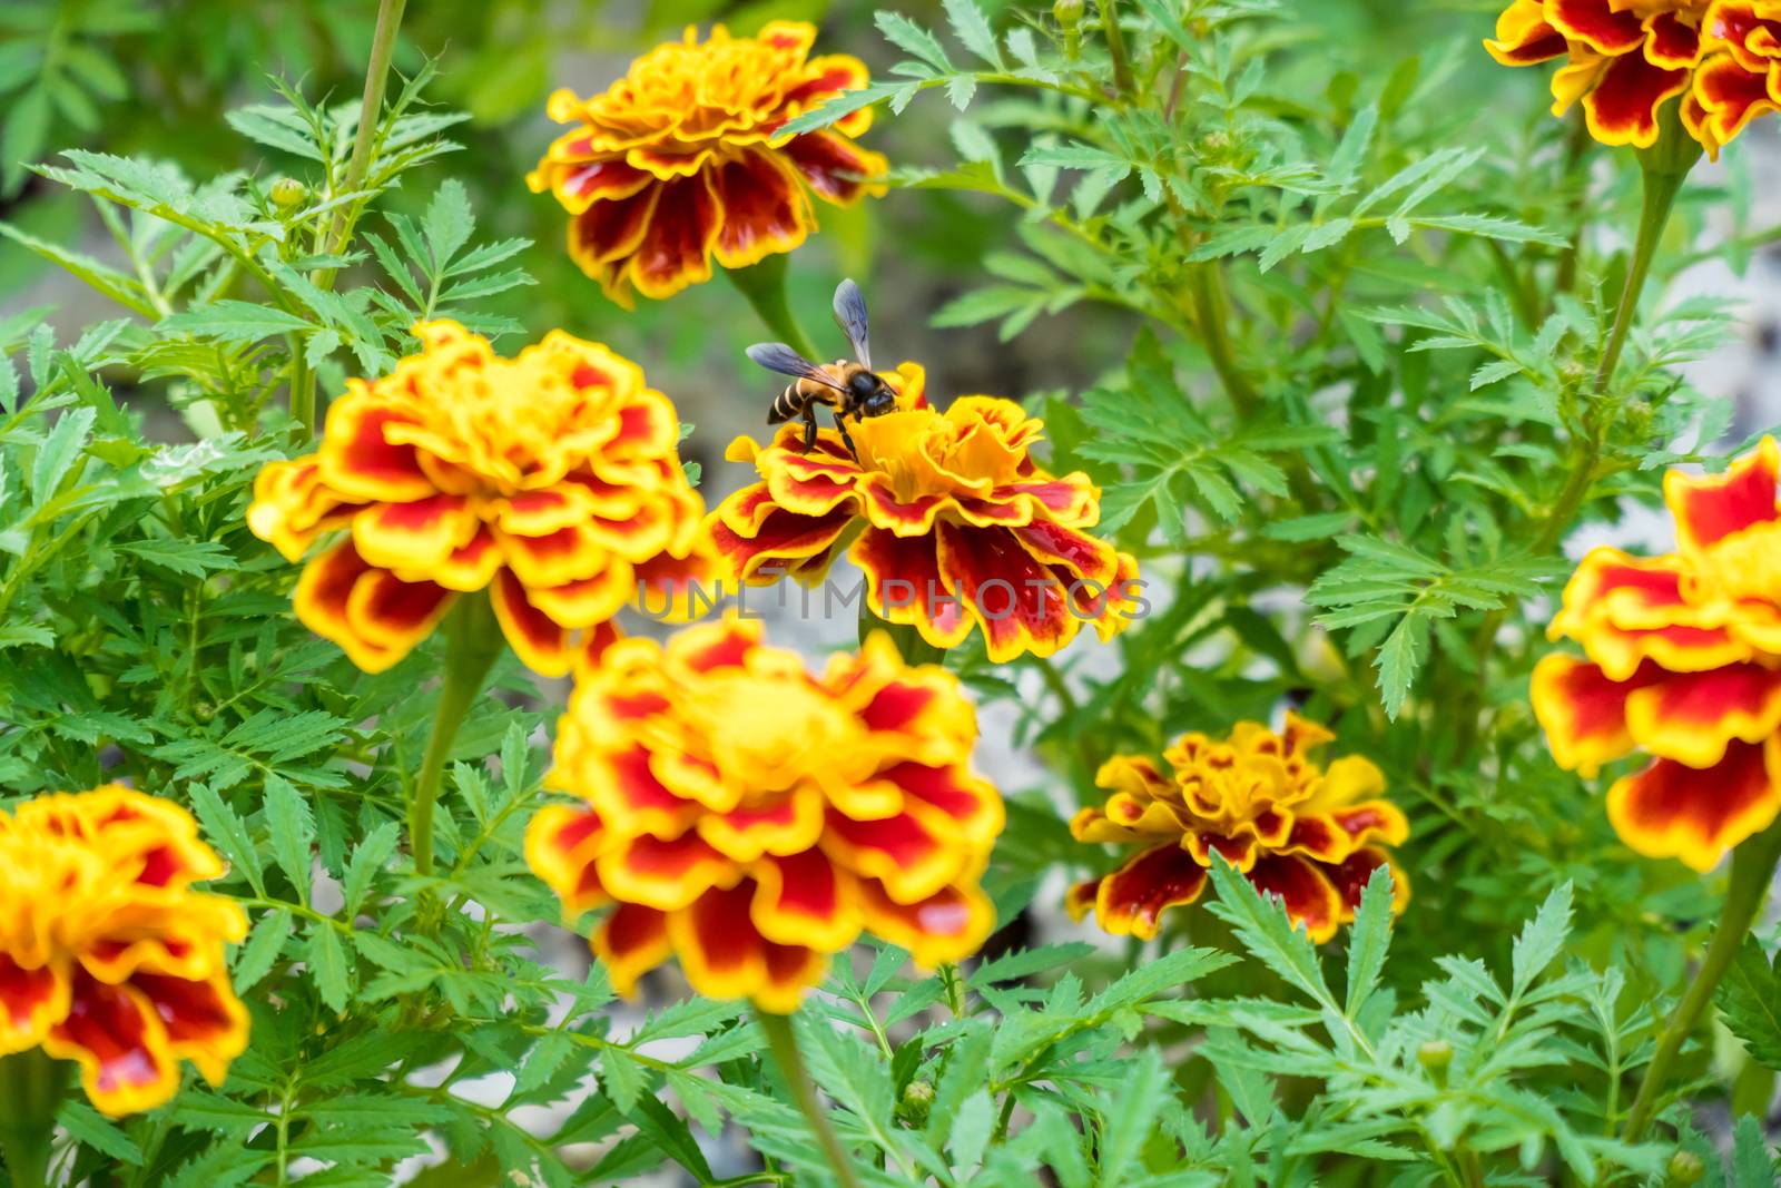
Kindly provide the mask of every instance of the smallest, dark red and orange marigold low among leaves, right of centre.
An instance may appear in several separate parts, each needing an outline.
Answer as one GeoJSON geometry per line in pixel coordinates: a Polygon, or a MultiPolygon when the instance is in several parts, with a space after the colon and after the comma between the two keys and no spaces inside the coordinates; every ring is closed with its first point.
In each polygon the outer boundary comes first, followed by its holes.
{"type": "Polygon", "coordinates": [[[1386,777],[1368,759],[1318,766],[1311,752],[1334,737],[1288,714],[1279,734],[1254,721],[1224,741],[1184,734],[1163,752],[1167,773],[1147,757],[1110,759],[1095,782],[1113,794],[1078,812],[1070,832],[1143,850],[1072,887],[1070,914],[1092,910],[1106,932],[1147,940],[1165,910],[1199,899],[1213,851],[1279,896],[1318,944],[1354,919],[1378,866],[1391,866],[1393,912],[1402,912],[1409,882],[1380,846],[1403,842],[1409,823],[1382,798],[1386,777]]]}

